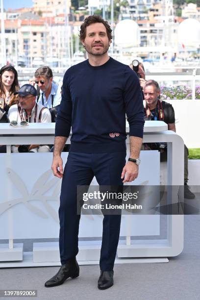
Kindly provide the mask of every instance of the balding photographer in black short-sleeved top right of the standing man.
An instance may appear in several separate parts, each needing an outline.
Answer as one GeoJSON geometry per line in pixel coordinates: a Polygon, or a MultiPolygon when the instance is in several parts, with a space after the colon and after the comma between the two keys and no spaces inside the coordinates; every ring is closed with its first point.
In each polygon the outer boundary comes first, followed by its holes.
{"type": "MultiPolygon", "coordinates": [[[[145,121],[163,121],[168,125],[168,130],[175,131],[175,111],[172,104],[160,101],[160,87],[155,80],[147,80],[144,85],[144,115],[145,121]]],[[[144,144],[142,150],[160,151],[161,162],[167,160],[167,143],[144,144]]],[[[184,198],[194,199],[188,182],[188,149],[184,145],[184,198]]]]}

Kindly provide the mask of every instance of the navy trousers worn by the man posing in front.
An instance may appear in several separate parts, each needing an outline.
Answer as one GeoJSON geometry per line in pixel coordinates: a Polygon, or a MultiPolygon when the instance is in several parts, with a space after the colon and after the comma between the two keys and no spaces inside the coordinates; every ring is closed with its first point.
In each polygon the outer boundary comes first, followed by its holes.
{"type": "MultiPolygon", "coordinates": [[[[59,207],[59,248],[61,264],[78,253],[77,185],[90,185],[94,176],[99,185],[123,185],[124,152],[78,153],[69,152],[65,165],[59,207]]],[[[104,215],[100,270],[111,271],[120,235],[120,215],[104,215]]]]}

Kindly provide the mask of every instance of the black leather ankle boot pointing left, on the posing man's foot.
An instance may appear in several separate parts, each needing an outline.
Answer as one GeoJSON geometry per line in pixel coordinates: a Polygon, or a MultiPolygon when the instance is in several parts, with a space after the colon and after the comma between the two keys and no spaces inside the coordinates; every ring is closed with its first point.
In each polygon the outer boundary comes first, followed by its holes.
{"type": "Polygon", "coordinates": [[[79,276],[79,266],[75,258],[69,259],[66,264],[60,267],[60,270],[56,275],[45,282],[46,287],[52,287],[63,284],[63,282],[71,277],[75,278],[79,276]]]}

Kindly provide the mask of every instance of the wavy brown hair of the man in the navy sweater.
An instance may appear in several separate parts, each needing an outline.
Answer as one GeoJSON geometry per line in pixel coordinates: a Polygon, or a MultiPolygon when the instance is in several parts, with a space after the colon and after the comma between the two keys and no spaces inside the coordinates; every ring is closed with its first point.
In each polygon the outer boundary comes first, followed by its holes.
{"type": "Polygon", "coordinates": [[[80,34],[79,34],[80,40],[84,41],[84,39],[85,39],[86,27],[91,24],[95,24],[95,23],[102,23],[105,26],[108,40],[111,41],[113,38],[112,37],[112,29],[110,28],[110,25],[108,24],[108,22],[103,20],[103,18],[99,15],[93,15],[93,16],[89,16],[89,17],[85,18],[85,20],[83,21],[83,23],[80,26],[80,34]]]}

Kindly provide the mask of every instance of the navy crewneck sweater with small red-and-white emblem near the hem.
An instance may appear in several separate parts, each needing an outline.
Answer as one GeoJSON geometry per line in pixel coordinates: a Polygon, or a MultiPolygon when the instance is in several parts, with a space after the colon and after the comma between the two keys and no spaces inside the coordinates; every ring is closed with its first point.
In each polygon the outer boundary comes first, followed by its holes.
{"type": "Polygon", "coordinates": [[[143,97],[137,75],[113,58],[98,67],[85,60],[69,68],[56,118],[55,136],[68,137],[70,151],[124,151],[125,114],[129,135],[143,137],[143,97]]]}

